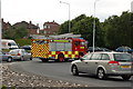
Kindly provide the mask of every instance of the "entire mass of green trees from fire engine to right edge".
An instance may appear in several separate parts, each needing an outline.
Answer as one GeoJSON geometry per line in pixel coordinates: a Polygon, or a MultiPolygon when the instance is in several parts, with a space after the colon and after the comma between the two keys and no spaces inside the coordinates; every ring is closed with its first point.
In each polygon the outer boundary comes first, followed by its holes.
{"type": "MultiPolygon", "coordinates": [[[[92,47],[93,17],[81,14],[71,21],[71,32],[80,33],[92,47]]],[[[68,32],[68,21],[61,24],[60,33],[68,32]]],[[[95,18],[95,46],[115,49],[120,46],[133,48],[133,13],[122,12],[119,16],[111,16],[104,22],[95,18]]]]}

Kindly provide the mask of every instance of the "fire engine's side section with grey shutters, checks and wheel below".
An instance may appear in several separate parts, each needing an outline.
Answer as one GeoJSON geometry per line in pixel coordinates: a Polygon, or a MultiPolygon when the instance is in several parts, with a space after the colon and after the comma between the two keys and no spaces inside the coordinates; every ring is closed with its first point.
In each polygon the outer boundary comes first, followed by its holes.
{"type": "Polygon", "coordinates": [[[50,40],[49,49],[49,58],[63,61],[70,57],[68,56],[69,51],[72,51],[71,39],[52,39],[50,40]]]}

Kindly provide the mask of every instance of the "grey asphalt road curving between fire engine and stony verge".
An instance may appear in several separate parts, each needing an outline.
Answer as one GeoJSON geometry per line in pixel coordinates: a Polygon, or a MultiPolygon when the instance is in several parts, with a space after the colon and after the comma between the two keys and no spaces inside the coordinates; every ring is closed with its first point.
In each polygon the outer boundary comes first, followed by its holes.
{"type": "Polygon", "coordinates": [[[121,77],[109,77],[106,80],[99,80],[89,75],[72,76],[70,72],[70,62],[41,62],[39,59],[33,59],[32,61],[12,62],[12,68],[16,71],[27,71],[58,80],[83,83],[90,87],[131,87],[131,83],[133,83],[133,78],[124,81],[121,77]]]}

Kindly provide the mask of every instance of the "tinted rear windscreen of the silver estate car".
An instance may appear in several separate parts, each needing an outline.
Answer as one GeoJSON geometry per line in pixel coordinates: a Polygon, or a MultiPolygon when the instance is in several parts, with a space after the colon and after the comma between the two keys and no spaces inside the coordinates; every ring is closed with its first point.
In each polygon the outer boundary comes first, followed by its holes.
{"type": "Polygon", "coordinates": [[[114,53],[114,60],[116,61],[132,61],[130,53],[114,53]]]}

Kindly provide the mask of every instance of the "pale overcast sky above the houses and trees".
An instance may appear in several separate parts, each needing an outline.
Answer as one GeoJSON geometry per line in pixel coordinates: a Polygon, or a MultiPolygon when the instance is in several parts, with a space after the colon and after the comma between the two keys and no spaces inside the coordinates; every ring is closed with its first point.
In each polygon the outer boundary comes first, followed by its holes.
{"type": "MultiPolygon", "coordinates": [[[[93,16],[95,0],[1,0],[1,18],[11,24],[20,21],[32,21],[40,27],[47,21],[63,23],[69,19],[69,6],[60,1],[70,3],[71,19],[84,13],[93,16]]],[[[98,0],[95,17],[100,21],[110,16],[120,16],[123,11],[131,11],[133,0],[98,0]]]]}

